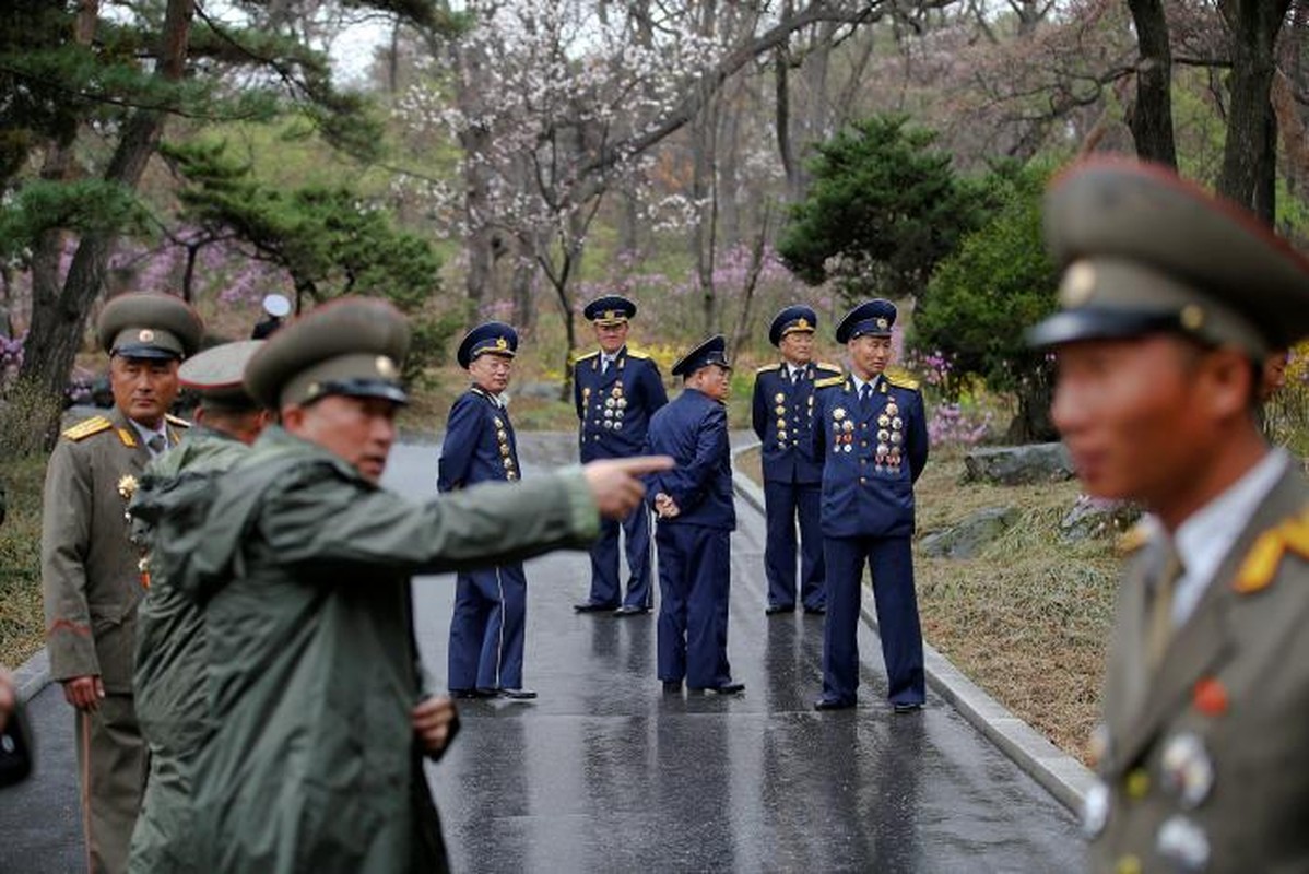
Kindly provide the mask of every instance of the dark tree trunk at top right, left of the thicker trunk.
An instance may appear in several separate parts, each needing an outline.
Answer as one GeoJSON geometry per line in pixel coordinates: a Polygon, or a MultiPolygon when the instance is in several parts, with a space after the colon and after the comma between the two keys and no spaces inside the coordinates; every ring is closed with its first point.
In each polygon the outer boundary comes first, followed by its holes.
{"type": "Polygon", "coordinates": [[[1162,0],[1128,0],[1136,24],[1140,58],[1136,61],[1136,102],[1127,114],[1127,127],[1136,154],[1177,166],[1173,143],[1173,50],[1162,0]]]}

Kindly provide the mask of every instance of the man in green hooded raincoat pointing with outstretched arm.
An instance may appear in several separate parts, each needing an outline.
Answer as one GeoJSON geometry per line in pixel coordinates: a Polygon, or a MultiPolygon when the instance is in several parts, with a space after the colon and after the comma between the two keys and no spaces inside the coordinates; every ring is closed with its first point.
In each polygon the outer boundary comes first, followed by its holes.
{"type": "Polygon", "coordinates": [[[637,505],[640,475],[672,463],[596,462],[425,505],[385,492],[407,345],[377,300],[284,327],[245,373],[281,427],[160,521],[153,560],[206,611],[199,870],[445,870],[421,763],[453,713],[423,697],[411,576],[585,548],[601,516],[637,505]]]}

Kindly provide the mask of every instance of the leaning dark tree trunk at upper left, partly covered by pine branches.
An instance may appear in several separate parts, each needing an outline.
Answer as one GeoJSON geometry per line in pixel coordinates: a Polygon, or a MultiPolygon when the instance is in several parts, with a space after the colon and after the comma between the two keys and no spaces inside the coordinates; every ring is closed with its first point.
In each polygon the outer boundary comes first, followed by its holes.
{"type": "MultiPolygon", "coordinates": [[[[160,33],[160,61],[154,72],[157,77],[170,82],[182,79],[194,12],[194,0],[169,0],[160,33]]],[[[105,170],[107,182],[127,188],[136,187],[154,153],[164,120],[164,114],[157,110],[136,110],[132,114],[105,170]]],[[[92,302],[105,287],[105,271],[115,242],[117,234],[113,232],[85,234],[58,300],[42,301],[41,306],[33,301],[31,328],[20,376],[42,394],[51,398],[63,394],[92,302]]]]}

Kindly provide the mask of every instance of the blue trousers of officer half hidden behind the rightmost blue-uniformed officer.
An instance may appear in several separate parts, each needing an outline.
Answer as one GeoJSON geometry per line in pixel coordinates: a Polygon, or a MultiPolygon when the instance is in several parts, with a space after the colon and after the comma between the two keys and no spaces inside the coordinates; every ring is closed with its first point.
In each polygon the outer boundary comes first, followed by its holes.
{"type": "Polygon", "coordinates": [[[796,604],[796,517],[800,517],[800,599],[817,610],[826,603],[822,557],[822,485],[818,483],[763,481],[768,540],[763,567],[768,574],[768,606],[796,604]]]}

